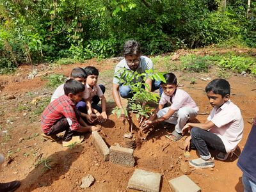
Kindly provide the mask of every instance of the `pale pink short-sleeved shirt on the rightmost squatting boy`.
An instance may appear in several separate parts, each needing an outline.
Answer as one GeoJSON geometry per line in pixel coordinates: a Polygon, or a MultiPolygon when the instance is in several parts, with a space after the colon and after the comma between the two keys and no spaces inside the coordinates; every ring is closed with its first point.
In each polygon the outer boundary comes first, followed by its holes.
{"type": "Polygon", "coordinates": [[[207,120],[211,120],[214,127],[210,132],[218,135],[223,141],[226,151],[236,149],[243,136],[244,122],[240,109],[230,100],[220,108],[213,108],[207,120]]]}

